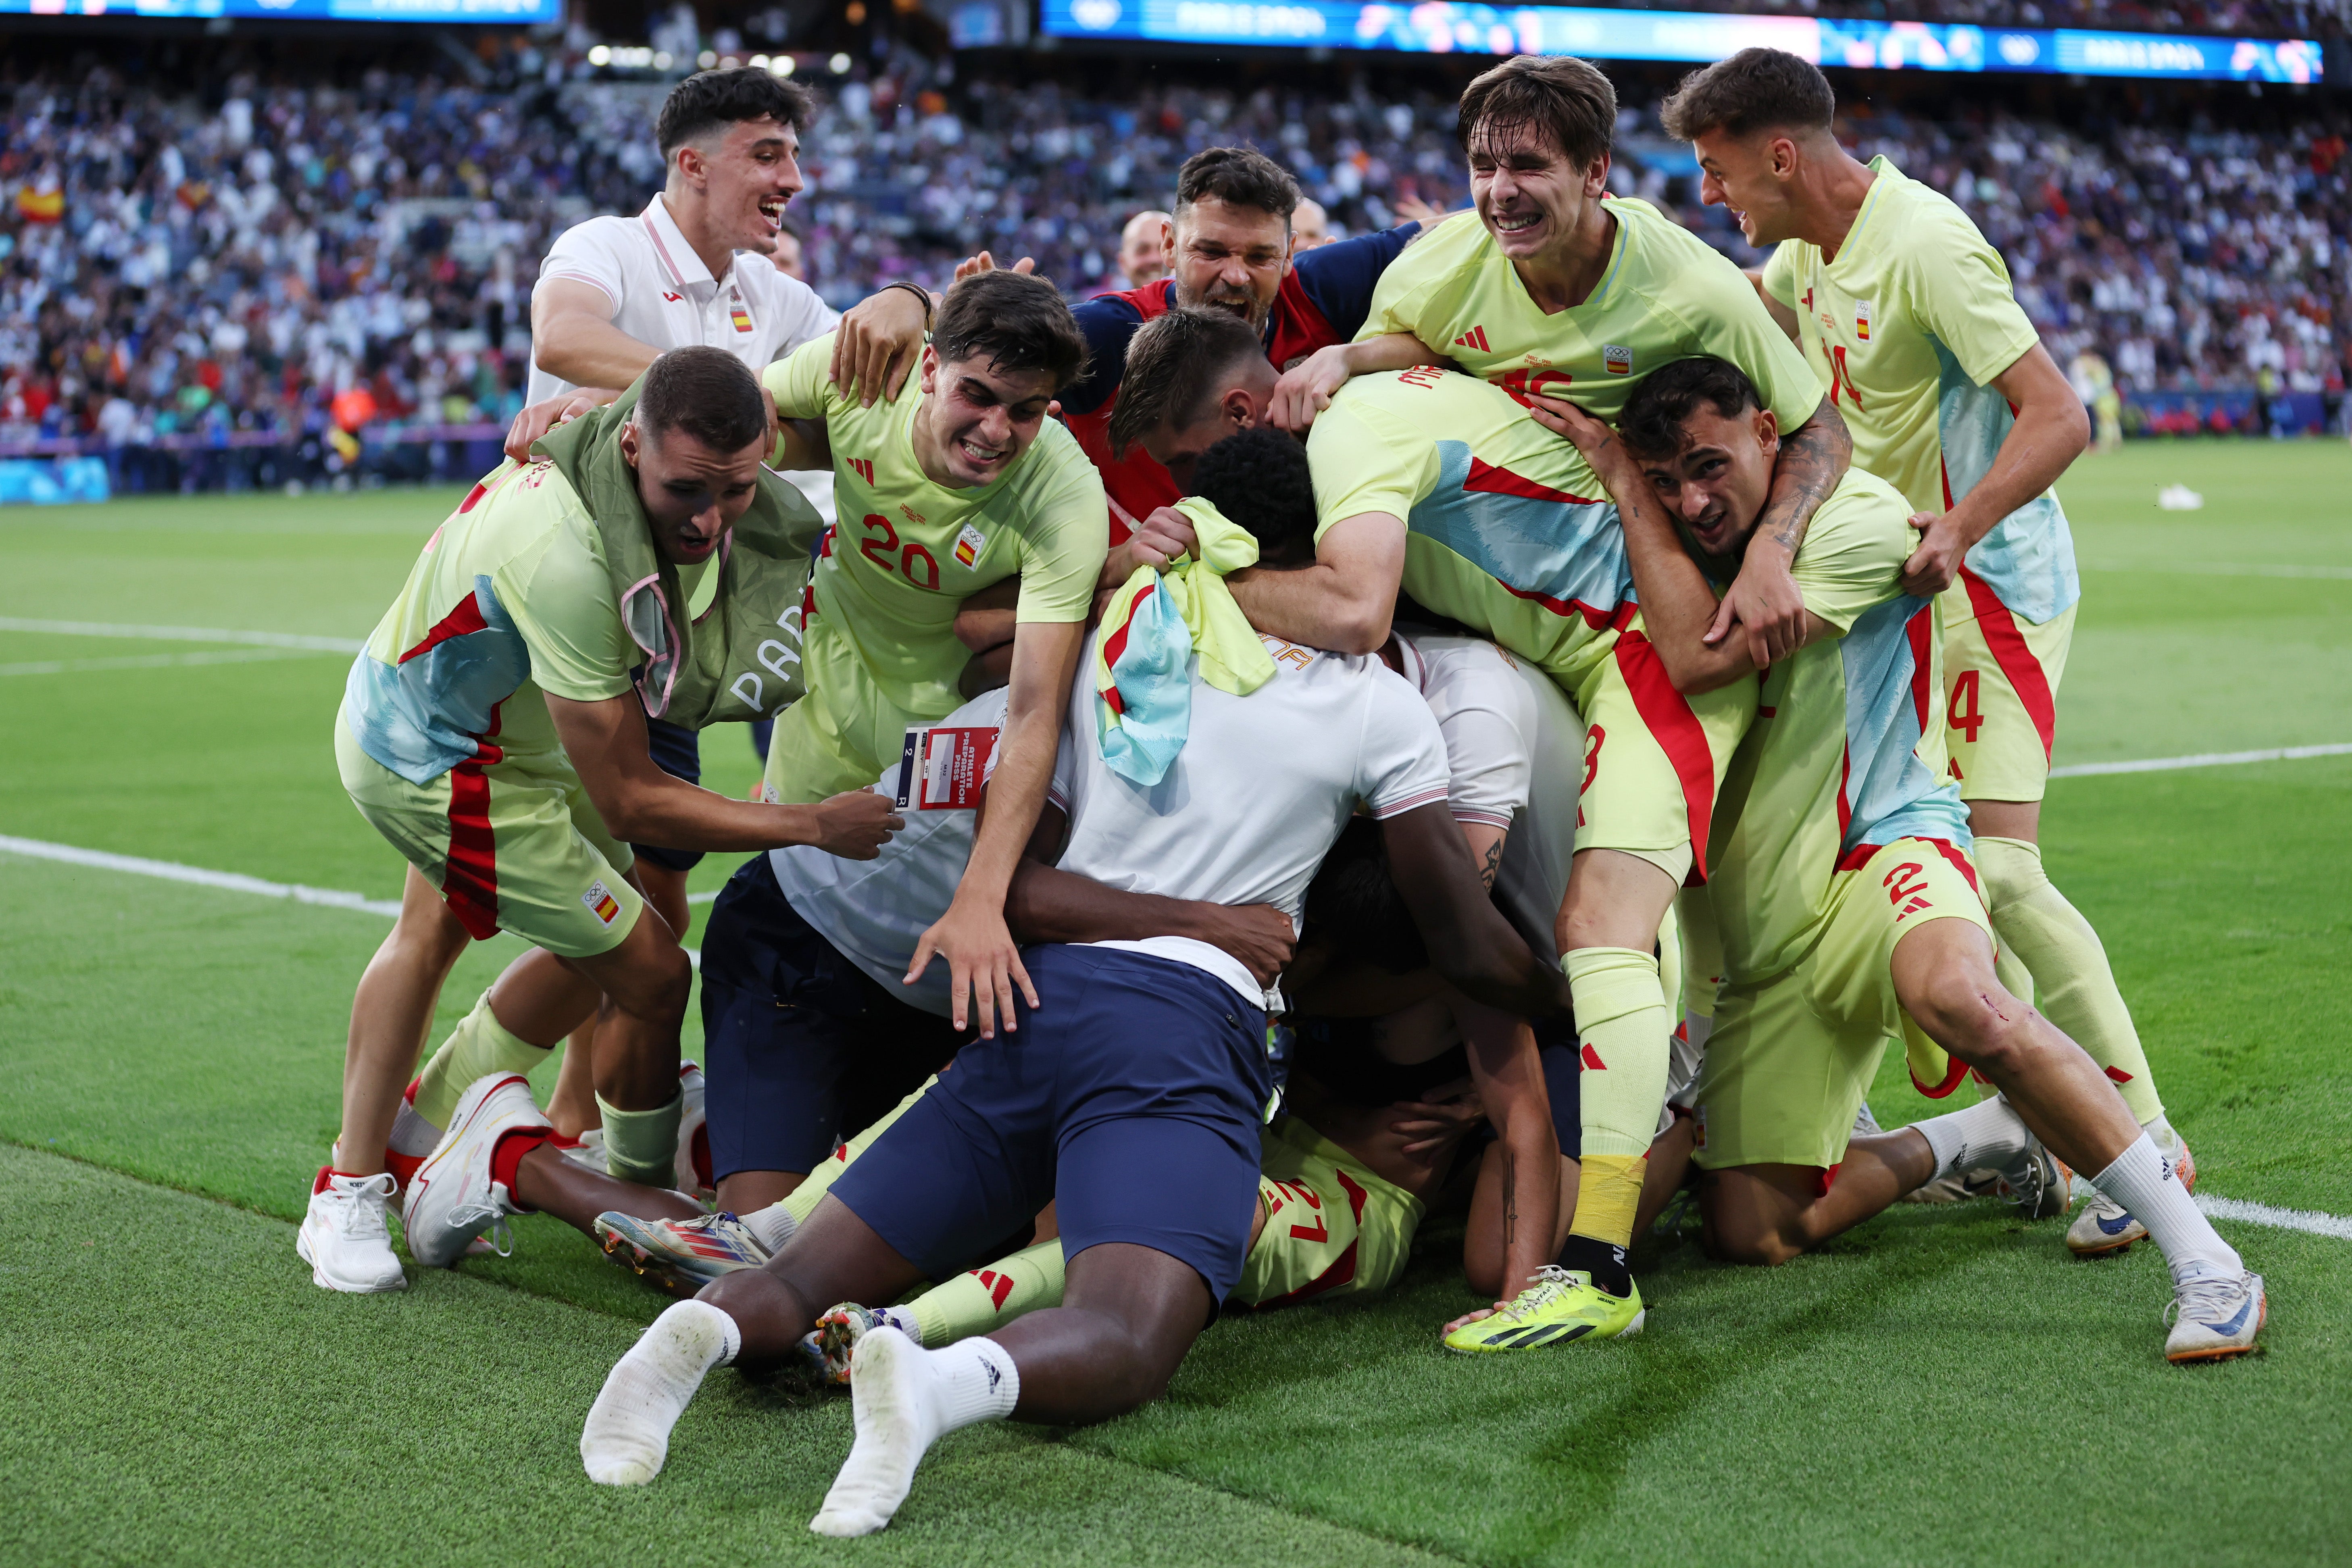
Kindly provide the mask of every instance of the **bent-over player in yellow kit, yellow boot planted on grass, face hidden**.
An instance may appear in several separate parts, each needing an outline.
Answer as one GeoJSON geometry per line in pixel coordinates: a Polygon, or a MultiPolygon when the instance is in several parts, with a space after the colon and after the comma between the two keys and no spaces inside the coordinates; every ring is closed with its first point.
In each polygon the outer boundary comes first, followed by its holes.
{"type": "MultiPolygon", "coordinates": [[[[1122,409],[1115,435],[1169,461],[1258,423],[1275,393],[1247,334],[1200,310],[1145,327],[1129,374],[1157,397],[1122,409]]],[[[1581,1338],[1630,1333],[1642,1295],[1625,1248],[1675,1027],[1658,936],[1675,889],[1705,870],[1715,790],[1755,684],[1675,691],[1642,630],[1616,508],[1576,449],[1505,388],[1437,369],[1359,376],[1315,421],[1308,456],[1317,564],[1237,574],[1232,592],[1254,623],[1378,646],[1402,588],[1541,668],[1585,724],[1576,858],[1550,912],[1585,1067],[1583,1173],[1559,1255],[1581,1284],[1543,1291],[1548,1321],[1578,1324],[1581,1338]]]]}

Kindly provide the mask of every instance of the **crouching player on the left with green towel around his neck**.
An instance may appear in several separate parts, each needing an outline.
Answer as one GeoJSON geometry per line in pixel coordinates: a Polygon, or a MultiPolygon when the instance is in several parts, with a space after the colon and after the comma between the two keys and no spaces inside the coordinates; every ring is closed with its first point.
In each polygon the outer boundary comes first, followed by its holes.
{"type": "MultiPolygon", "coordinates": [[[[628,839],[873,856],[898,818],[870,792],[750,804],[654,766],[647,705],[630,679],[652,663],[642,639],[652,635],[668,654],[663,668],[687,679],[701,668],[691,628],[729,625],[727,607],[757,574],[734,567],[701,623],[675,614],[661,632],[623,623],[626,592],[659,581],[661,599],[691,599],[731,529],[746,517],[781,529],[788,508],[767,491],[776,482],[760,458],[771,428],[741,362],[680,348],[635,393],[633,407],[567,430],[560,456],[487,477],[433,534],[353,661],[334,748],[360,816],[442,891],[466,936],[513,931],[536,947],[461,1025],[416,1110],[449,1124],[461,1088],[546,1058],[602,994],[597,1095],[612,1171],[666,1180],[682,1114],[677,1025],[694,971],[661,917],[644,919],[628,839]]],[[[706,654],[708,668],[722,668],[715,649],[706,654]]],[[[670,691],[682,689],[673,682],[670,691]]],[[[416,1037],[402,1020],[372,1065],[372,1114],[381,1110],[386,1128],[416,1037]]],[[[355,1159],[381,1147],[376,1128],[355,1138],[346,1126],[343,1150],[355,1159]]],[[[397,1288],[383,1227],[393,1178],[329,1168],[318,1187],[327,1201],[313,1204],[296,1239],[313,1276],[329,1288],[397,1288]]],[[[412,1215],[419,1197],[412,1190],[412,1215]]],[[[414,1218],[407,1229],[419,1262],[447,1262],[447,1237],[414,1218]]]]}

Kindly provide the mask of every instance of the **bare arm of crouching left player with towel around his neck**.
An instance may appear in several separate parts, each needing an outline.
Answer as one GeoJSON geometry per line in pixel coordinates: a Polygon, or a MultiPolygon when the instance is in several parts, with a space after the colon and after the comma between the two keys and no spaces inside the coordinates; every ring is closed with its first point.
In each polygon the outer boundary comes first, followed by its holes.
{"type": "Polygon", "coordinates": [[[628,844],[731,851],[814,844],[849,860],[873,860],[906,827],[887,797],[851,790],[814,806],[727,799],[654,766],[644,750],[644,705],[635,691],[602,703],[548,693],[548,715],[579,769],[604,827],[628,844]]]}

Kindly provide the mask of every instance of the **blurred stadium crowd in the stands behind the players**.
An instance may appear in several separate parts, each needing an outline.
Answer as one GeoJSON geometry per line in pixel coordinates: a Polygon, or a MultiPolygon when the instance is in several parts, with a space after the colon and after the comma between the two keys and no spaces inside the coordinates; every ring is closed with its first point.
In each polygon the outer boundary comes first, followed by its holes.
{"type": "MultiPolygon", "coordinates": [[[[572,71],[524,52],[520,89],[369,71],[348,87],[238,75],[162,96],[103,66],[0,87],[0,442],[301,437],[325,477],[372,421],[508,418],[536,259],[567,223],[640,207],[659,169],[659,92],[586,68],[560,80],[572,71]]],[[[837,308],[891,277],[941,282],[981,247],[1035,256],[1070,294],[1124,287],[1120,226],[1218,141],[1272,150],[1334,235],[1465,200],[1437,92],[1082,96],[955,80],[901,49],[828,99],[793,221],[837,308]]],[[[2060,360],[2096,350],[2124,390],[2340,390],[2340,115],[2173,136],[1886,113],[1846,132],[1978,221],[2060,360]]],[[[1653,113],[1621,113],[1618,165],[1618,188],[1759,261],[1698,205],[1689,153],[1653,113]]],[[[219,482],[183,482],[200,480],[219,482]]]]}

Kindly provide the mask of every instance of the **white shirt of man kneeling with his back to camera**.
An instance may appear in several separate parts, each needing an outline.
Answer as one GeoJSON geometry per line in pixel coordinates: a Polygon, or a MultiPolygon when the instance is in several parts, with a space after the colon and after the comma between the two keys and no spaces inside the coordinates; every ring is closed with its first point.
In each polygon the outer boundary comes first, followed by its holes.
{"type": "MultiPolygon", "coordinates": [[[[1390,818],[1446,799],[1446,743],[1421,696],[1376,656],[1265,637],[1275,677],[1249,696],[1192,679],[1192,726],[1157,785],[1110,771],[1096,738],[1094,661],[1080,656],[1054,766],[1070,811],[1061,870],[1127,893],[1270,903],[1298,924],[1308,882],[1348,816],[1390,818]]],[[[1183,936],[1096,943],[1204,969],[1251,1006],[1268,994],[1221,947],[1183,936]]]]}

